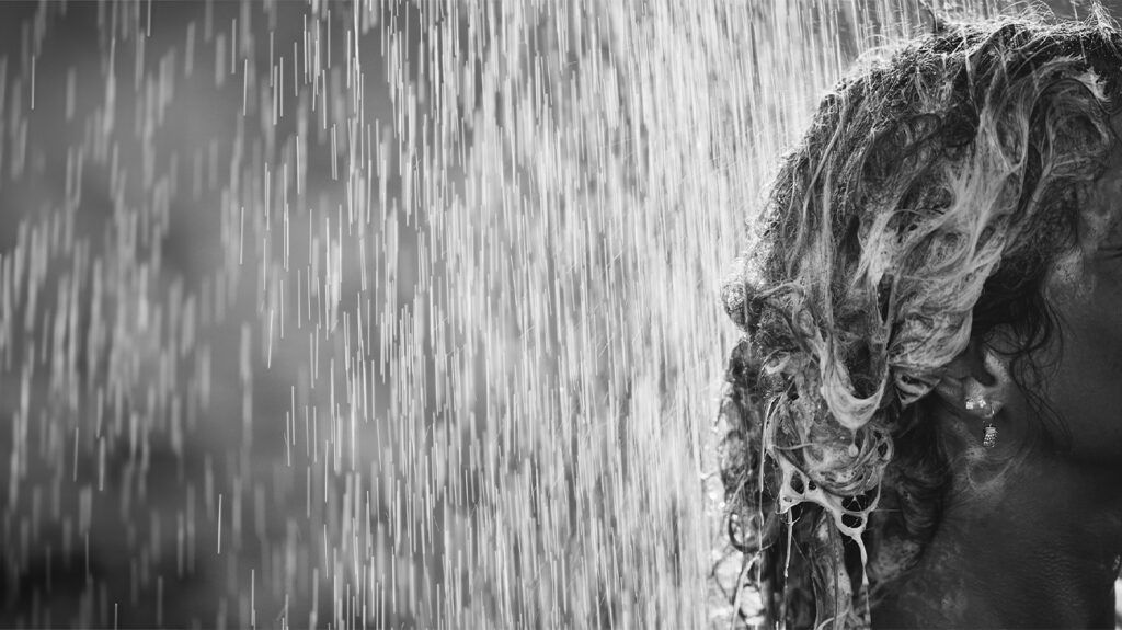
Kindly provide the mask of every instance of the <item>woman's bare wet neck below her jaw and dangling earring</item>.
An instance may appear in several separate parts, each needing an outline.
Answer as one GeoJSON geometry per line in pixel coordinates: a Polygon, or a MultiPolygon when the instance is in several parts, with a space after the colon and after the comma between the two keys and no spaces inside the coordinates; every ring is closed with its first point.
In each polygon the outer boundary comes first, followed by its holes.
{"type": "Polygon", "coordinates": [[[1113,628],[1120,482],[1119,471],[1033,457],[981,490],[955,491],[873,626],[1113,628]]]}

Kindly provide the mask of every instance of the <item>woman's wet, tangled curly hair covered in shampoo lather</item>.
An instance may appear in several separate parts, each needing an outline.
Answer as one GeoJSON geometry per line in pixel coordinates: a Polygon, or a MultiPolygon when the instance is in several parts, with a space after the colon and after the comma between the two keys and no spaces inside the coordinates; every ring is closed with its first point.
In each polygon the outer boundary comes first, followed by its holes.
{"type": "Polygon", "coordinates": [[[863,61],[784,159],[723,294],[745,333],[729,536],[769,624],[867,626],[917,564],[951,467],[928,393],[972,340],[1011,331],[1028,388],[1045,278],[1114,146],[1120,44],[1101,16],[939,24],[863,61]]]}

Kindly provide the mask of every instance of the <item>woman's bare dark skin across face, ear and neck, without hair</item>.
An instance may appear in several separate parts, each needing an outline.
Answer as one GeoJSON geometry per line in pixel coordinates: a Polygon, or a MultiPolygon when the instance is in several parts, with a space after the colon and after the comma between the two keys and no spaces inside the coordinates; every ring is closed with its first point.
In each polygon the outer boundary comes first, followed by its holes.
{"type": "Polygon", "coordinates": [[[1122,554],[1122,148],[1080,202],[1078,247],[1054,266],[1046,287],[1061,342],[1033,356],[1045,364],[1038,393],[1070,439],[1057,447],[1030,437],[1031,427],[1055,435],[1056,423],[1010,379],[1001,342],[974,342],[948,365],[932,407],[949,437],[953,490],[919,565],[874,609],[874,627],[1114,627],[1122,554]],[[984,418],[964,404],[978,390],[1003,404],[993,450],[982,447],[984,418]]]}

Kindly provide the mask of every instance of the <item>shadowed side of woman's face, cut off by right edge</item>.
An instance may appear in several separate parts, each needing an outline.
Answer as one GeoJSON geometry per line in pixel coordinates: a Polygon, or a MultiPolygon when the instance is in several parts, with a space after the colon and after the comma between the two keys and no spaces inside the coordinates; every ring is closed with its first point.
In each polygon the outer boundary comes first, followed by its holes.
{"type": "MultiPolygon", "coordinates": [[[[1119,129],[1115,122],[1115,129],[1119,129]]],[[[1070,455],[1122,470],[1122,150],[1083,200],[1078,247],[1046,285],[1061,345],[1042,391],[1070,432],[1070,455]]]]}

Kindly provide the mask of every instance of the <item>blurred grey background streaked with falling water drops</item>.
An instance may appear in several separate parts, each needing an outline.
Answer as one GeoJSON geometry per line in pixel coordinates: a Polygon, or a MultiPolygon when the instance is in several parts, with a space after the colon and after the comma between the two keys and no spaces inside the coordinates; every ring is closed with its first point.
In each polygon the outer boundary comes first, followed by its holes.
{"type": "Polygon", "coordinates": [[[0,626],[751,624],[721,278],[926,6],[0,4],[0,626]]]}

